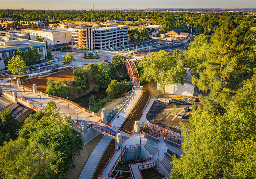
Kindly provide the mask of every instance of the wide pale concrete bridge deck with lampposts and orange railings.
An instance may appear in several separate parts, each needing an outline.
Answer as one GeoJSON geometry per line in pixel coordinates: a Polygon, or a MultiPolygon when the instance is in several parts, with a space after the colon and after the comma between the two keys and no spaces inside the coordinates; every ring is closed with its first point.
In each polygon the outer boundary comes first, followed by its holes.
{"type": "Polygon", "coordinates": [[[96,117],[96,116],[89,116],[88,113],[83,112],[81,109],[79,109],[78,107],[72,105],[69,103],[69,105],[67,104],[67,102],[62,101],[60,99],[53,99],[50,97],[46,97],[44,95],[38,95],[37,93],[34,93],[33,91],[30,90],[25,90],[25,94],[24,94],[24,90],[22,87],[17,87],[17,85],[11,85],[10,87],[10,83],[8,82],[1,82],[1,86],[2,86],[2,90],[5,90],[7,92],[11,92],[12,90],[16,90],[17,91],[17,95],[18,97],[21,97],[23,99],[25,99],[25,95],[26,95],[26,99],[29,100],[29,102],[35,106],[36,108],[38,108],[39,110],[44,110],[45,106],[47,105],[47,102],[49,101],[55,101],[56,105],[58,108],[60,108],[60,114],[61,116],[66,115],[71,115],[71,118],[74,119],[74,121],[78,121],[79,123],[81,122],[81,120],[83,118],[87,118],[87,124],[93,123],[98,121],[100,118],[96,117]],[[40,100],[40,96],[41,96],[41,100],[40,100]],[[41,106],[41,101],[42,101],[42,106],[41,106]],[[69,107],[68,107],[69,106],[69,107]],[[77,113],[76,113],[77,111],[77,113]]]}

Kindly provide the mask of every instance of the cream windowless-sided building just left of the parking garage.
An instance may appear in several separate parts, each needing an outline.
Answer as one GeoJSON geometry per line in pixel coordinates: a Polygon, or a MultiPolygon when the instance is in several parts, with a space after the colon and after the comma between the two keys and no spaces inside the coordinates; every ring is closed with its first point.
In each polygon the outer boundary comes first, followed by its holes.
{"type": "Polygon", "coordinates": [[[72,33],[67,29],[44,29],[44,30],[28,30],[30,38],[36,39],[36,36],[44,38],[48,42],[48,45],[57,45],[64,43],[71,43],[72,33]]]}

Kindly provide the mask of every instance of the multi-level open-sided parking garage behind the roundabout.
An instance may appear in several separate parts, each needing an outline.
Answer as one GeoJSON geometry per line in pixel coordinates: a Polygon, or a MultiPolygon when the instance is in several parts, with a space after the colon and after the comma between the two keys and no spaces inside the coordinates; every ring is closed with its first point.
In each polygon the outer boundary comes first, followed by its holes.
{"type": "Polygon", "coordinates": [[[89,50],[102,50],[128,45],[128,26],[92,28],[86,25],[78,31],[78,44],[89,50]]]}

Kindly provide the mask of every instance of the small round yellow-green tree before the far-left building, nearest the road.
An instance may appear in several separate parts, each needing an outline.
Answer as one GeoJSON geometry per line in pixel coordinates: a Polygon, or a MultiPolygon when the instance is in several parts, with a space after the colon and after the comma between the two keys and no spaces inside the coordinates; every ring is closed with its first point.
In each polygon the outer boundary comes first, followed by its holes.
{"type": "Polygon", "coordinates": [[[25,74],[28,72],[28,66],[26,65],[25,61],[22,59],[20,55],[15,55],[12,57],[12,59],[8,60],[8,65],[6,67],[13,74],[25,74]]]}

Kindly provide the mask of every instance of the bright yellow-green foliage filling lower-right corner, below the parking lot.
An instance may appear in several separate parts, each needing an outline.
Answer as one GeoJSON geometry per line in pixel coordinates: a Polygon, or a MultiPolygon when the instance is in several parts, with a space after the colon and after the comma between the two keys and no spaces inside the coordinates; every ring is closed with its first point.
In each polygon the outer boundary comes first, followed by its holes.
{"type": "Polygon", "coordinates": [[[194,131],[184,132],[185,155],[173,157],[171,179],[256,177],[255,89],[256,75],[227,100],[224,113],[205,108],[193,113],[189,127],[194,131]]]}

